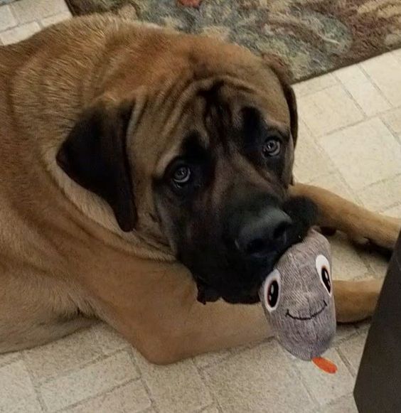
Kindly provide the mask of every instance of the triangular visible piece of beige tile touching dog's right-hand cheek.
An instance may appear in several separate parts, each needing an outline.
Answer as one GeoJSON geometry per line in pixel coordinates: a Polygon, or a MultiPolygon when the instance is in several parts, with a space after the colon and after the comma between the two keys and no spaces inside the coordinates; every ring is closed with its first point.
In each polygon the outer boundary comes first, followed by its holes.
{"type": "Polygon", "coordinates": [[[319,176],[331,173],[334,165],[325,151],[314,141],[304,122],[299,122],[299,136],[296,143],[294,176],[296,181],[309,183],[319,176]]]}

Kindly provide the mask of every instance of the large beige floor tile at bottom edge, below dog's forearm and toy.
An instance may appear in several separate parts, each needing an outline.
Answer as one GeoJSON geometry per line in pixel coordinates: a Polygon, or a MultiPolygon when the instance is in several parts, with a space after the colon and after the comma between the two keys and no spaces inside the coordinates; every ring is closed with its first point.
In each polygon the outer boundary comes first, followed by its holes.
{"type": "Polygon", "coordinates": [[[223,412],[310,412],[314,403],[276,341],[245,350],[205,370],[223,412]]]}

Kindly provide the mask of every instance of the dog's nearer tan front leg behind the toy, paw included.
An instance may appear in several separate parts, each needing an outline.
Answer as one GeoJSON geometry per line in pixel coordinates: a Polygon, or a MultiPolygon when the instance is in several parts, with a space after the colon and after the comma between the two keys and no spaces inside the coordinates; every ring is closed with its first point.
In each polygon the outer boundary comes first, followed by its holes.
{"type": "MultiPolygon", "coordinates": [[[[338,321],[360,321],[371,316],[380,287],[380,281],[375,279],[334,281],[338,321]]],[[[156,364],[257,343],[273,335],[260,304],[217,301],[203,305],[196,301],[195,292],[193,288],[186,292],[181,289],[180,294],[165,296],[164,301],[160,295],[149,296],[146,299],[149,307],[141,309],[140,323],[138,307],[131,314],[124,307],[112,324],[145,358],[156,364]],[[157,304],[152,306],[152,302],[157,304]]]]}

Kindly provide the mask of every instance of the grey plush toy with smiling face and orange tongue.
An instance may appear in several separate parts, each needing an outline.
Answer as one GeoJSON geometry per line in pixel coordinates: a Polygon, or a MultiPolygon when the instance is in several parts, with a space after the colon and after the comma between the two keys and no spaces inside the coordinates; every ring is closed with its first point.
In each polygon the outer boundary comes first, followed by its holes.
{"type": "Polygon", "coordinates": [[[336,333],[330,245],[311,230],[279,259],[260,289],[264,312],[282,346],[326,372],[336,366],[321,358],[336,333]]]}

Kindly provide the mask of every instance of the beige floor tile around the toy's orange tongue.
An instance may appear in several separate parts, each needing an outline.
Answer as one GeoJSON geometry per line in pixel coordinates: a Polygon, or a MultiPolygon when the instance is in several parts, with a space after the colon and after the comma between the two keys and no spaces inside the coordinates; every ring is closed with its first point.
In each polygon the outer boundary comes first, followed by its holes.
{"type": "Polygon", "coordinates": [[[338,397],[348,395],[353,387],[353,377],[334,349],[329,349],[324,357],[331,360],[337,366],[337,372],[329,375],[314,365],[301,360],[296,360],[296,367],[309,392],[315,397],[319,404],[328,404],[338,397]]]}

